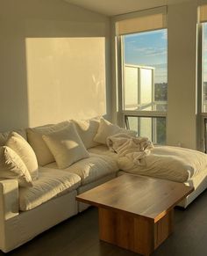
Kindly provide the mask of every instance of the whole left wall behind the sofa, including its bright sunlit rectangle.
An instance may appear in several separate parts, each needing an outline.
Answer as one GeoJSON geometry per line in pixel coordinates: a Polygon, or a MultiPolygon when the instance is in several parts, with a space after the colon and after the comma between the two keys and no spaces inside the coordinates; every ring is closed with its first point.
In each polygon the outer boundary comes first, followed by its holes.
{"type": "Polygon", "coordinates": [[[0,129],[110,118],[109,19],[61,0],[0,3],[0,129]]]}

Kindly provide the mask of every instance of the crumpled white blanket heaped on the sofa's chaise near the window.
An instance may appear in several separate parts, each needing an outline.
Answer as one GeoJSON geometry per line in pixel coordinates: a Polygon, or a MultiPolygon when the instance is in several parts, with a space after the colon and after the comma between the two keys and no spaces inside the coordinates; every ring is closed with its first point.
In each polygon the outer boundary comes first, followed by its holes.
{"type": "Polygon", "coordinates": [[[149,156],[153,149],[153,143],[148,138],[124,133],[107,137],[106,143],[111,151],[118,153],[118,157],[127,157],[134,165],[142,165],[140,159],[149,156]]]}

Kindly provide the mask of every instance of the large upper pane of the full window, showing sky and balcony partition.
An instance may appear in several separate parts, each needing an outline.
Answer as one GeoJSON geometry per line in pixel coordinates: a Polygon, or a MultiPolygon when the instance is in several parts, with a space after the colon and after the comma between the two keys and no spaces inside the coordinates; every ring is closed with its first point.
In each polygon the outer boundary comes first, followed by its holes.
{"type": "Polygon", "coordinates": [[[122,40],[125,110],[167,111],[167,29],[122,40]]]}

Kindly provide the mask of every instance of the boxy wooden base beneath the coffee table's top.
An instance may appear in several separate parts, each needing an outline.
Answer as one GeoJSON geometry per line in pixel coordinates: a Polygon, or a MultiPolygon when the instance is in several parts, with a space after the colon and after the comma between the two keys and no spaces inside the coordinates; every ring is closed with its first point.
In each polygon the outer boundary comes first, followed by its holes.
{"type": "Polygon", "coordinates": [[[157,223],[143,216],[99,208],[99,238],[132,252],[149,255],[172,232],[173,210],[157,223]]]}

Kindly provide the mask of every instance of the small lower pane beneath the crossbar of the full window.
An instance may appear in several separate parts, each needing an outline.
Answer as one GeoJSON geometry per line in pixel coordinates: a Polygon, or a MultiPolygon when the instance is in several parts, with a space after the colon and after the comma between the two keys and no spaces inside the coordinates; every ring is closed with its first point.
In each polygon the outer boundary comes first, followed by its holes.
{"type": "Polygon", "coordinates": [[[147,137],[154,144],[166,143],[165,117],[126,116],[130,129],[136,130],[139,136],[147,137]]]}

